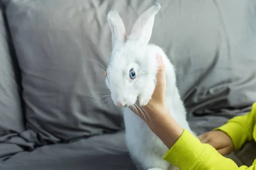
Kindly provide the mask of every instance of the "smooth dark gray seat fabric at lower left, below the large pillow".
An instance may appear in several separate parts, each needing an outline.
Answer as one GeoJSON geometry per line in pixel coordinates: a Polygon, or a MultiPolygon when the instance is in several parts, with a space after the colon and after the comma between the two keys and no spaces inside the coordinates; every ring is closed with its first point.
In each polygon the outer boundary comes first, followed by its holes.
{"type": "Polygon", "coordinates": [[[136,170],[125,147],[124,131],[39,147],[12,156],[0,170],[136,170]]]}

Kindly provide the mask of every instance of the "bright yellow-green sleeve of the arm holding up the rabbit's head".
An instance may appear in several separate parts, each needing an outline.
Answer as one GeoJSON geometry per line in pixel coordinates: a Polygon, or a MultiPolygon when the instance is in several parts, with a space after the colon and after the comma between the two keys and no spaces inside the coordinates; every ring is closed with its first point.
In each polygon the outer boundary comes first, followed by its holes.
{"type": "Polygon", "coordinates": [[[256,170],[255,161],[250,167],[238,167],[234,161],[222,156],[211,145],[202,144],[188,130],[183,131],[163,159],[180,170],[256,170]]]}

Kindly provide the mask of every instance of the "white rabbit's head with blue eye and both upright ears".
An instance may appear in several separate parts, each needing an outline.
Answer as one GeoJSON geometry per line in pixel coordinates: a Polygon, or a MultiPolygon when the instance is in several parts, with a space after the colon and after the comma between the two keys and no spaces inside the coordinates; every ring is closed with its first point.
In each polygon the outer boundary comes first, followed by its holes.
{"type": "Polygon", "coordinates": [[[108,13],[112,51],[105,74],[116,106],[146,105],[151,99],[156,84],[157,54],[149,52],[148,41],[159,9],[160,4],[155,3],[143,12],[129,36],[117,11],[108,13]]]}

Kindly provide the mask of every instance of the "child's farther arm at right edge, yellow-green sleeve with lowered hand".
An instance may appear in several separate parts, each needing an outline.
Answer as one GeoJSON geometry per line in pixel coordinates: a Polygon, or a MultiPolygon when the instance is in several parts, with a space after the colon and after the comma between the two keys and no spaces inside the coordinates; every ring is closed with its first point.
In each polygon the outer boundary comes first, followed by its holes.
{"type": "MultiPolygon", "coordinates": [[[[212,145],[221,155],[239,150],[244,143],[253,140],[253,128],[256,124],[256,103],[244,116],[230,119],[227,124],[199,136],[202,143],[212,145]]],[[[255,132],[254,132],[255,133],[255,132]]]]}

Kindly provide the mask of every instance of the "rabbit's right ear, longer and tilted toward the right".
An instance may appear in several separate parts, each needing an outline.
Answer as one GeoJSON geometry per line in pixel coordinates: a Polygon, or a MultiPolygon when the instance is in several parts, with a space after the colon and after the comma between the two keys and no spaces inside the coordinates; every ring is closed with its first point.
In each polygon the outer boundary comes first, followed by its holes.
{"type": "Polygon", "coordinates": [[[141,45],[147,45],[154,25],[154,16],[159,9],[160,4],[154,3],[153,6],[144,11],[134,23],[128,39],[139,41],[141,45]]]}

